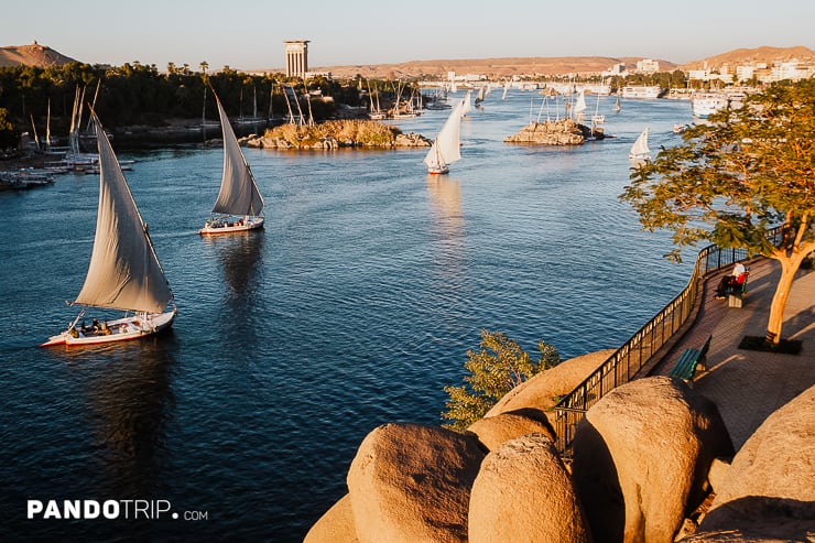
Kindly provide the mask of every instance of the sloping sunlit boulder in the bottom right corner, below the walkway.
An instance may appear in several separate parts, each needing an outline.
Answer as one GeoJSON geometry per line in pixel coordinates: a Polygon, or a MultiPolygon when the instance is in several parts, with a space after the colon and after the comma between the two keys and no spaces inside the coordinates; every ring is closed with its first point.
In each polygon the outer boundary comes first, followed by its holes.
{"type": "Polygon", "coordinates": [[[812,541],[815,534],[815,387],[767,417],[732,459],[704,532],[812,541]]]}

